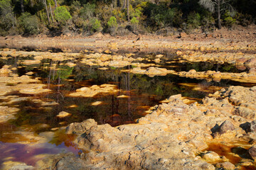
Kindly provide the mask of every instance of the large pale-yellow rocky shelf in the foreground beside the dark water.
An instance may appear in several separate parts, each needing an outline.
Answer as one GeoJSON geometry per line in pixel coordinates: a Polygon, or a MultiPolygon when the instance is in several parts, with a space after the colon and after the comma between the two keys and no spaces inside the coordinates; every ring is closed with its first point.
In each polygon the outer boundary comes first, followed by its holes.
{"type": "Polygon", "coordinates": [[[36,169],[249,169],[255,167],[256,86],[230,86],[187,105],[181,95],[137,124],[71,123],[80,158],[57,154],[36,169]],[[216,149],[213,146],[219,146],[216,149]],[[224,150],[221,150],[224,149],[224,150]]]}

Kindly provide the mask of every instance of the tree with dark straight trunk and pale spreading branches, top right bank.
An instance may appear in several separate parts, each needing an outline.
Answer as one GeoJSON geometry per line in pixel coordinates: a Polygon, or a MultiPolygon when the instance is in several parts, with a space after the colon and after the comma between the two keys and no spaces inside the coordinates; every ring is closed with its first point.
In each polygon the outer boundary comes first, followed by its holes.
{"type": "Polygon", "coordinates": [[[218,28],[221,29],[220,15],[225,13],[226,10],[230,11],[230,16],[235,15],[235,8],[228,2],[230,0],[199,0],[199,4],[207,8],[211,13],[217,12],[218,16],[218,28]]]}

